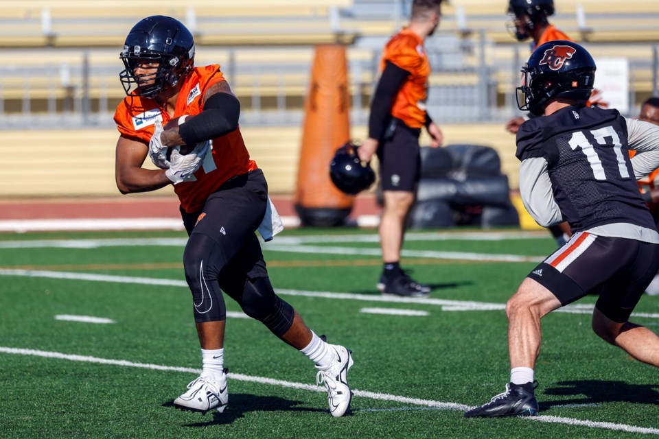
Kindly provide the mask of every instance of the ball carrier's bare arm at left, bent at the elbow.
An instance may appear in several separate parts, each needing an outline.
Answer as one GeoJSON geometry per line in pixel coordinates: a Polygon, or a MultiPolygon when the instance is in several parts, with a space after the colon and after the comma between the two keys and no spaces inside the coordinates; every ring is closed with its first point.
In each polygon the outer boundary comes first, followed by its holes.
{"type": "Polygon", "coordinates": [[[115,180],[121,193],[155,191],[171,183],[163,169],[142,167],[148,150],[146,143],[119,137],[115,157],[115,180]]]}

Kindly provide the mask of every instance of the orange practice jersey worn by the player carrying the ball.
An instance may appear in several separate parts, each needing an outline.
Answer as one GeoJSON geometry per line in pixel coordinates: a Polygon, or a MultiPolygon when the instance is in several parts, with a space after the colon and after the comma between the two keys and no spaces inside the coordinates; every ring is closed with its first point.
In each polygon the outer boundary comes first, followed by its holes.
{"type": "MultiPolygon", "coordinates": [[[[131,95],[119,104],[115,112],[117,129],[124,137],[149,143],[154,130],[154,123],[160,120],[163,126],[183,115],[198,115],[202,110],[203,95],[208,88],[224,80],[218,64],[196,67],[187,75],[178,95],[174,116],[170,116],[157,104],[155,99],[131,95]]],[[[229,178],[246,174],[257,169],[255,161],[249,158],[249,152],[240,134],[240,128],[222,137],[213,139],[212,151],[194,173],[195,180],[181,182],[174,186],[174,192],[186,212],[201,209],[211,193],[218,190],[229,178]]]]}

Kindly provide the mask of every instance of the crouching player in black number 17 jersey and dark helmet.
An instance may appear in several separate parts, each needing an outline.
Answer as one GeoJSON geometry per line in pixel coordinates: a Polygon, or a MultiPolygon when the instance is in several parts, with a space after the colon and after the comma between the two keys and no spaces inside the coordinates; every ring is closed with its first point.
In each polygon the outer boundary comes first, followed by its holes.
{"type": "Polygon", "coordinates": [[[595,70],[567,40],[541,45],[522,67],[518,106],[538,116],[517,133],[522,201],[538,224],[567,221],[573,235],[508,300],[510,382],[467,418],[537,415],[540,319],[586,294],[599,296],[594,333],[659,367],[658,335],[628,320],[659,268],[659,233],[636,185],[659,167],[659,127],[586,106],[595,70]]]}

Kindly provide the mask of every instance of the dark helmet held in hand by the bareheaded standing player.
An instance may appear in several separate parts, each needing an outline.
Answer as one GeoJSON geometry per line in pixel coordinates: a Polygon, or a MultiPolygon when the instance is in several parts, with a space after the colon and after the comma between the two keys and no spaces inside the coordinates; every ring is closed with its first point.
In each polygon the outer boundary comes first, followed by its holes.
{"type": "Polygon", "coordinates": [[[340,191],[348,195],[357,195],[375,182],[373,168],[370,163],[362,165],[357,148],[358,145],[354,143],[344,143],[329,163],[329,178],[340,191]]]}

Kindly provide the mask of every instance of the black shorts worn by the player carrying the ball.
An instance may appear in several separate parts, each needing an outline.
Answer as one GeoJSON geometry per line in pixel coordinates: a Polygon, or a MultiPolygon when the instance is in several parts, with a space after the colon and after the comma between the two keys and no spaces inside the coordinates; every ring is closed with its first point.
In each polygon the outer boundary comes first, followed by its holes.
{"type": "Polygon", "coordinates": [[[261,246],[255,235],[267,205],[268,184],[263,171],[255,169],[225,182],[207,198],[200,211],[186,213],[181,209],[188,235],[203,233],[220,247],[227,262],[220,283],[227,274],[229,278],[233,277],[232,270],[246,273],[249,278],[267,276],[261,246]]]}

